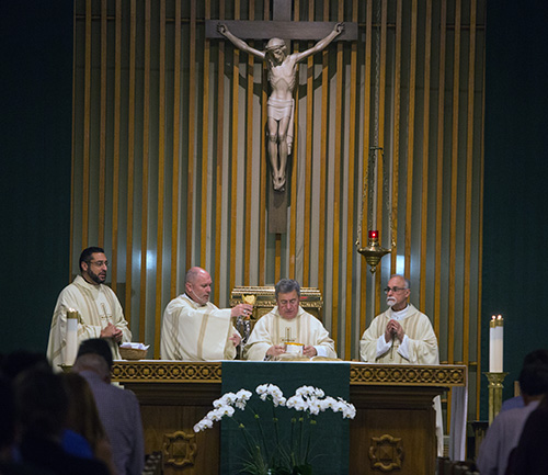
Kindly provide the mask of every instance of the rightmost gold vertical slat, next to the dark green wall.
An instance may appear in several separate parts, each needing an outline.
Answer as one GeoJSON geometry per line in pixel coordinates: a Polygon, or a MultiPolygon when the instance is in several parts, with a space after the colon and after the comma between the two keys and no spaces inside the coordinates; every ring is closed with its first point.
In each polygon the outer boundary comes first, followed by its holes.
{"type": "Polygon", "coordinates": [[[470,252],[472,234],[473,184],[473,94],[476,92],[476,0],[470,0],[470,44],[468,50],[468,129],[466,138],[466,215],[465,215],[465,285],[463,308],[463,363],[469,362],[470,338],[470,252]]]}

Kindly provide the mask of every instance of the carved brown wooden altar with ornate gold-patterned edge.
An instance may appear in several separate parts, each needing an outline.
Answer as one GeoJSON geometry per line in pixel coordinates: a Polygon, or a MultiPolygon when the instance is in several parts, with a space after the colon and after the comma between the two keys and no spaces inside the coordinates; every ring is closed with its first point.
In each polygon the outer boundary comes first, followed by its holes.
{"type": "MultiPolygon", "coordinates": [[[[246,362],[240,364],[244,369],[246,362]]],[[[302,384],[307,365],[313,364],[293,363],[302,384]]],[[[116,361],[113,381],[137,395],[145,450],[162,452],[165,475],[220,473],[220,426],[193,431],[221,395],[220,362],[116,361]]],[[[464,365],[350,363],[350,403],[356,417],[350,421],[349,473],[434,475],[432,399],[449,388],[464,389],[466,382],[464,365]]]]}

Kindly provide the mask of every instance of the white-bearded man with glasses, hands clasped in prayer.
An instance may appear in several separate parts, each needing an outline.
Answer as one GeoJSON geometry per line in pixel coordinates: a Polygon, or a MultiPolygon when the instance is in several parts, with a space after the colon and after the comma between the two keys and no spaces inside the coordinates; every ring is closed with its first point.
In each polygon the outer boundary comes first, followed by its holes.
{"type": "MultiPolygon", "coordinates": [[[[383,364],[439,364],[437,338],[429,317],[408,303],[411,285],[392,275],[385,289],[388,309],[375,317],[359,341],[362,361],[383,364]]],[[[443,419],[439,396],[436,411],[437,454],[443,456],[443,419]]]]}

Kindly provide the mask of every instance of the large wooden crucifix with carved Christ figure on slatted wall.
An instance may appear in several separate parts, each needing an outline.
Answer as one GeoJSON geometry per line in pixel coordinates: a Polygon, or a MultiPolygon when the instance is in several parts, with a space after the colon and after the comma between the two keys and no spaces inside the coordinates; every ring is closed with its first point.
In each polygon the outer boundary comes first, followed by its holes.
{"type": "Polygon", "coordinates": [[[295,103],[293,91],[297,82],[298,63],[321,52],[332,41],[356,39],[357,24],[334,22],[292,22],[292,0],[274,0],[272,21],[206,21],[206,36],[227,38],[237,48],[266,61],[270,95],[267,114],[267,155],[272,171],[269,204],[269,231],[287,230],[287,159],[292,155],[293,118],[295,103]],[[243,39],[266,39],[264,50],[259,50],[243,39]],[[285,39],[317,39],[311,48],[290,54],[285,39]]]}

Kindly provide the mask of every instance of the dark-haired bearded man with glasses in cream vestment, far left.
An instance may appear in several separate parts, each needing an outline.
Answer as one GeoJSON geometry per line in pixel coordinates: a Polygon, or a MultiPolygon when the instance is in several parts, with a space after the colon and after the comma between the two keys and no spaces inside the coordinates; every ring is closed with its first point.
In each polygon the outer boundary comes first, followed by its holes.
{"type": "Polygon", "coordinates": [[[104,285],[109,269],[104,249],[84,249],[79,264],[80,275],[59,294],[52,319],[47,358],[55,371],[66,362],[68,310],[78,312],[78,343],[89,338],[109,338],[113,357],[119,359],[118,344],[132,341],[118,297],[104,285]]]}

